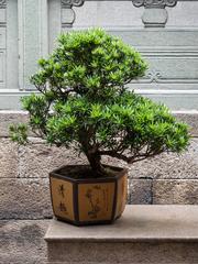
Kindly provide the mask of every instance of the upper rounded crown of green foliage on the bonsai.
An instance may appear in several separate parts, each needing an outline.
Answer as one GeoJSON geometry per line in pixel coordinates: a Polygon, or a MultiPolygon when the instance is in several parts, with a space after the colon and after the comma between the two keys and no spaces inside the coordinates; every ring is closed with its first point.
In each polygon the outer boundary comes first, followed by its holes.
{"type": "Polygon", "coordinates": [[[131,46],[100,29],[62,34],[58,47],[38,64],[41,70],[31,78],[38,90],[45,91],[48,82],[62,98],[73,90],[97,101],[123,89],[147,67],[131,46]]]}

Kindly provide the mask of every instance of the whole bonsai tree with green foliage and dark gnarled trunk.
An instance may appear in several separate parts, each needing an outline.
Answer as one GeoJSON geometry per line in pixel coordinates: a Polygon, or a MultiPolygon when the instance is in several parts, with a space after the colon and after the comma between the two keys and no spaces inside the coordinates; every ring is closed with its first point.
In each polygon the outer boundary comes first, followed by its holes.
{"type": "MultiPolygon", "coordinates": [[[[84,153],[99,177],[102,156],[129,164],[188,145],[187,125],[162,103],[128,90],[147,65],[131,46],[101,29],[62,34],[31,77],[41,92],[22,99],[29,127],[47,143],[84,153]]],[[[13,141],[28,141],[25,124],[10,128],[13,141]]]]}

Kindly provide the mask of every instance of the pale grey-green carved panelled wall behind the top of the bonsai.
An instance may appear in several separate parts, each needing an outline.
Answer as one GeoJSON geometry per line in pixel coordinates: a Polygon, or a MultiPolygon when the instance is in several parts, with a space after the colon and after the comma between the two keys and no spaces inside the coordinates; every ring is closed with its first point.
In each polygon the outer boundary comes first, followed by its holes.
{"type": "MultiPolygon", "coordinates": [[[[146,76],[132,81],[130,88],[146,91],[176,110],[184,106],[195,109],[196,102],[198,109],[198,1],[178,1],[176,7],[166,8],[164,29],[145,29],[145,9],[135,8],[132,1],[89,0],[73,7],[75,13],[66,0],[65,7],[62,0],[6,2],[0,8],[0,97],[12,96],[14,90],[19,96],[14,92],[13,98],[19,98],[20,91],[34,90],[29,77],[37,70],[37,59],[53,51],[61,32],[102,26],[134,46],[150,64],[146,76]]],[[[4,109],[10,106],[4,105],[4,109]]]]}

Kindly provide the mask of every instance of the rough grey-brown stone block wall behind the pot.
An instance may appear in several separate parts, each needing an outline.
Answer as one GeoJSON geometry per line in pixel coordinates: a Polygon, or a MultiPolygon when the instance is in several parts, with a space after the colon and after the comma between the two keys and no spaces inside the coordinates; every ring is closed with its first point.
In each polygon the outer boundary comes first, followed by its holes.
{"type": "MultiPolygon", "coordinates": [[[[129,204],[198,204],[198,113],[176,116],[191,127],[188,152],[163,154],[131,166],[129,204]]],[[[25,146],[12,143],[9,124],[25,120],[22,112],[0,112],[0,263],[46,263],[43,235],[53,217],[48,172],[86,162],[72,151],[50,147],[35,138],[25,146]]]]}

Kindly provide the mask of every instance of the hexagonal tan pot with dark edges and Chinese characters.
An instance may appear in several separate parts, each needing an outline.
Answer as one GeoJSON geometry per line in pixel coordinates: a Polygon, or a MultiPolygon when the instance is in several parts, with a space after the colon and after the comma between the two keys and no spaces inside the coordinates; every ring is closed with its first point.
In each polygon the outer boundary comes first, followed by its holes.
{"type": "Polygon", "coordinates": [[[125,208],[128,170],[108,166],[114,170],[113,176],[80,178],[70,173],[77,167],[86,165],[65,166],[50,173],[55,217],[76,226],[112,223],[125,208]]]}

